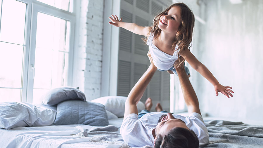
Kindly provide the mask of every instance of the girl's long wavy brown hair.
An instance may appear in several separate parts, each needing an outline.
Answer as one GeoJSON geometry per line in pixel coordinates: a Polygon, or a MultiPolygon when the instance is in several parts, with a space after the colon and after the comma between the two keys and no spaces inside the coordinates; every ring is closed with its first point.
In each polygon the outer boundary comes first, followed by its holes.
{"type": "MultiPolygon", "coordinates": [[[[178,64],[174,65],[175,67],[176,66],[179,67],[179,65],[181,65],[184,62],[184,60],[180,60],[179,55],[183,53],[186,49],[188,49],[192,41],[193,27],[195,24],[195,16],[193,15],[193,12],[191,11],[191,9],[188,6],[186,6],[186,4],[184,3],[172,4],[165,11],[162,11],[161,13],[159,13],[158,15],[154,17],[152,29],[148,32],[148,35],[150,34],[150,32],[153,32],[152,35],[156,35],[155,39],[157,39],[160,36],[161,29],[158,27],[160,18],[163,14],[165,14],[166,11],[169,11],[174,6],[178,6],[181,8],[181,24],[178,27],[176,37],[172,45],[173,51],[179,50],[178,55],[177,55],[179,62],[178,64]],[[177,49],[176,49],[176,45],[178,45],[177,49]]],[[[148,36],[145,36],[142,39],[146,43],[148,40],[148,36]]]]}

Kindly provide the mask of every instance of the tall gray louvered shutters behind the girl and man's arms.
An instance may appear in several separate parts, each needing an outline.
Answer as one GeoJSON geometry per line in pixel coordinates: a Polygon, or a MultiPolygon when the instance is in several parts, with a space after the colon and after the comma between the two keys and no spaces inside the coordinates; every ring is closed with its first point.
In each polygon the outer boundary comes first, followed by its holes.
{"type": "MultiPolygon", "coordinates": [[[[159,13],[164,6],[157,0],[121,0],[120,2],[120,17],[123,22],[134,22],[140,26],[152,25],[154,16],[151,14],[159,13]]],[[[172,3],[172,1],[169,2],[172,3]]],[[[147,57],[149,47],[143,43],[141,37],[144,36],[120,28],[117,95],[128,96],[131,88],[150,65],[147,57]]],[[[163,109],[169,111],[169,96],[170,75],[167,72],[156,71],[141,101],[144,102],[148,97],[151,97],[153,100],[152,111],[155,110],[155,105],[158,102],[162,104],[163,109]]]]}

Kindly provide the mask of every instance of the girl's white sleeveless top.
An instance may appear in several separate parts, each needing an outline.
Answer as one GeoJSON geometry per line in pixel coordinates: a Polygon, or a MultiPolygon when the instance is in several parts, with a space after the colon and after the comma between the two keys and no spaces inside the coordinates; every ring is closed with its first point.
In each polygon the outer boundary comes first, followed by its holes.
{"type": "MultiPolygon", "coordinates": [[[[153,64],[161,70],[169,70],[174,65],[174,62],[178,59],[178,50],[174,52],[173,55],[169,55],[162,52],[153,43],[153,35],[150,33],[146,44],[149,46],[150,54],[153,58],[153,64]]],[[[178,46],[176,46],[177,49],[178,46]]]]}

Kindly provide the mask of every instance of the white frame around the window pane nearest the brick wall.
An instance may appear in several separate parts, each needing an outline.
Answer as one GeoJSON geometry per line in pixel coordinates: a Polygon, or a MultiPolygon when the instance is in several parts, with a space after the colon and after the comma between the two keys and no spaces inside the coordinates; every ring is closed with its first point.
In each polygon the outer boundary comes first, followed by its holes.
{"type": "Polygon", "coordinates": [[[34,85],[34,60],[37,32],[37,13],[45,13],[67,21],[70,21],[70,39],[69,39],[69,59],[68,59],[68,77],[67,86],[72,86],[73,71],[73,47],[74,47],[74,29],[75,29],[75,1],[73,3],[73,13],[41,3],[36,0],[17,0],[27,4],[25,20],[25,39],[24,39],[24,58],[22,72],[22,102],[32,103],[33,85],[34,85]]]}

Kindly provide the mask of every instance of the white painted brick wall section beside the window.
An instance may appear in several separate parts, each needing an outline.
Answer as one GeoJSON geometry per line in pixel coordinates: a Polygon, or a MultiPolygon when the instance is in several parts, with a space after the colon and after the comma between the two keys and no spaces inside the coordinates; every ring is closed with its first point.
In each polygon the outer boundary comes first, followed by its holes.
{"type": "Polygon", "coordinates": [[[87,100],[101,94],[103,4],[103,0],[81,0],[76,13],[72,85],[79,86],[87,100]]]}

